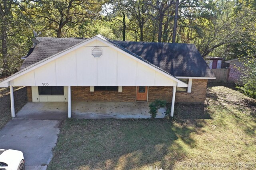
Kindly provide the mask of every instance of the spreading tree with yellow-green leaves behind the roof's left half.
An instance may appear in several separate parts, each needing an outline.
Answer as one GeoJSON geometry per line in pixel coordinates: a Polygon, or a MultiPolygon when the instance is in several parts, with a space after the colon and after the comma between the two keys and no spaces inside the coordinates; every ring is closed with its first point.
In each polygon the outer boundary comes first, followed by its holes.
{"type": "Polygon", "coordinates": [[[28,13],[44,18],[49,29],[61,37],[64,26],[95,19],[101,11],[101,3],[96,0],[38,0],[32,3],[28,13]]]}

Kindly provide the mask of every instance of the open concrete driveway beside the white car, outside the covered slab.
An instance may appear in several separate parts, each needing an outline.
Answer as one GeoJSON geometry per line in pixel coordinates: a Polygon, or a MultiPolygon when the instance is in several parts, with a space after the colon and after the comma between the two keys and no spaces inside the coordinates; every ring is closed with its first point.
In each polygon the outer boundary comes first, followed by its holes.
{"type": "Polygon", "coordinates": [[[0,148],[21,150],[26,170],[45,170],[55,147],[61,120],[12,119],[0,131],[0,148]]]}

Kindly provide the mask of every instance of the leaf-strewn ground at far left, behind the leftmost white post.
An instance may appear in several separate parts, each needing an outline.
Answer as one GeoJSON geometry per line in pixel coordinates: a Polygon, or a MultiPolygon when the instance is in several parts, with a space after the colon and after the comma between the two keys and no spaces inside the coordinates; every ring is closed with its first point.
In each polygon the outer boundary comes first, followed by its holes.
{"type": "MultiPolygon", "coordinates": [[[[27,103],[27,88],[14,87],[14,106],[17,113],[27,103]]],[[[12,119],[10,88],[0,88],[0,129],[12,119]]]]}

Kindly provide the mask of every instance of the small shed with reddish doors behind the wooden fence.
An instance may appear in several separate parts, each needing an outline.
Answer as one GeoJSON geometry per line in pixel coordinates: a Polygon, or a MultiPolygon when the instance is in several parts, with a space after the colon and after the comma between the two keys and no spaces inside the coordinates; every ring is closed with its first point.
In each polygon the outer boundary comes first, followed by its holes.
{"type": "Polygon", "coordinates": [[[206,57],[206,63],[210,67],[210,69],[216,68],[228,68],[228,63],[224,62],[224,58],[221,57],[206,57]]]}

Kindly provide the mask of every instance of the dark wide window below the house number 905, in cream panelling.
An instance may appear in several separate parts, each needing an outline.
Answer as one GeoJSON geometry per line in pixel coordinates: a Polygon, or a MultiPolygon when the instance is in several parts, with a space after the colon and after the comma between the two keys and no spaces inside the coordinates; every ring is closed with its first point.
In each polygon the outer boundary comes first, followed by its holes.
{"type": "Polygon", "coordinates": [[[38,94],[39,95],[64,95],[64,87],[63,86],[38,86],[38,94]]]}

